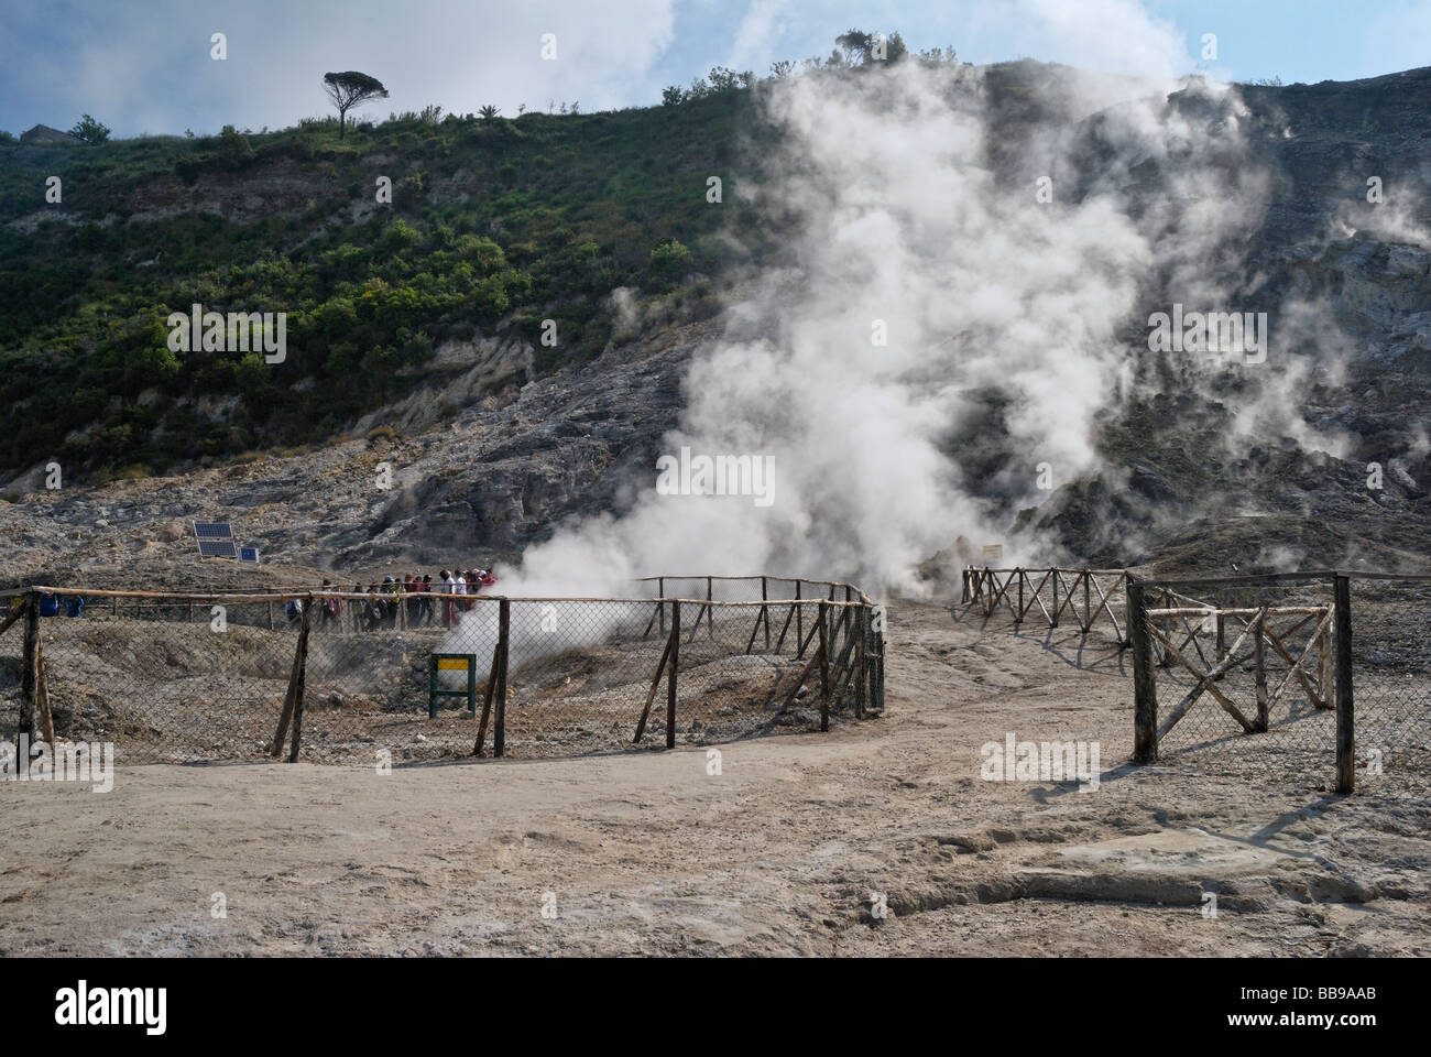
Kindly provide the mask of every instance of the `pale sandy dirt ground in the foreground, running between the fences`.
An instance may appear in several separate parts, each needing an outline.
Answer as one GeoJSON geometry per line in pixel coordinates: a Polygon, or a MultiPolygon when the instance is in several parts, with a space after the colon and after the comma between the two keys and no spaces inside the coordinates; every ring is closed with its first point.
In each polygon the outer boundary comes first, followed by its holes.
{"type": "Polygon", "coordinates": [[[1130,768],[1123,663],[897,603],[883,718],[718,775],[690,748],[0,783],[0,954],[1431,954],[1424,782],[1335,796],[1329,746],[1130,768]],[[1009,733],[1098,742],[1102,781],[983,781],[1009,733]]]}

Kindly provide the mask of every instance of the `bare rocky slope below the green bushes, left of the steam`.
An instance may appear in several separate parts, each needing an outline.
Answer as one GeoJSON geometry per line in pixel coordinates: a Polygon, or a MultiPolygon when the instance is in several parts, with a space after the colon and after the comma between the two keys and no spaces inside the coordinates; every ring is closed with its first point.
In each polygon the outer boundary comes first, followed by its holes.
{"type": "Polygon", "coordinates": [[[674,328],[542,380],[527,380],[531,349],[471,348],[451,381],[363,420],[371,437],[312,451],[57,490],[36,467],[0,503],[7,579],[236,587],[511,560],[654,467],[690,351],[711,332],[674,328]],[[263,564],[200,561],[193,520],[232,521],[263,564]]]}

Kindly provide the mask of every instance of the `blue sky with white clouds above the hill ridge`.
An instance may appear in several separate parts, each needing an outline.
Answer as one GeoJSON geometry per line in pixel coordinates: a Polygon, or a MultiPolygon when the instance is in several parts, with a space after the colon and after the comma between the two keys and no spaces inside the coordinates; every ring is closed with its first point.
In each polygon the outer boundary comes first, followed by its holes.
{"type": "Polygon", "coordinates": [[[376,117],[645,106],[714,64],[824,56],[851,26],[976,63],[1149,76],[1312,83],[1431,64],[1431,0],[27,0],[0,10],[0,129],[67,129],[80,113],[119,136],[280,127],[325,113],[319,79],[346,69],[391,89],[376,117]]]}

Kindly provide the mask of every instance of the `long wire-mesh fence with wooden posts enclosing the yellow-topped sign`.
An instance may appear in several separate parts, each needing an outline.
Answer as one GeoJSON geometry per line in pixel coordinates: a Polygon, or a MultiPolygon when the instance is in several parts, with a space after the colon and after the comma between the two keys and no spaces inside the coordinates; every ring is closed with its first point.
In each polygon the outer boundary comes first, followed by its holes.
{"type": "Polygon", "coordinates": [[[857,589],[671,594],[694,580],[661,599],[20,593],[36,613],[0,636],[0,738],[372,765],[718,743],[881,708],[881,623],[857,589]]]}

